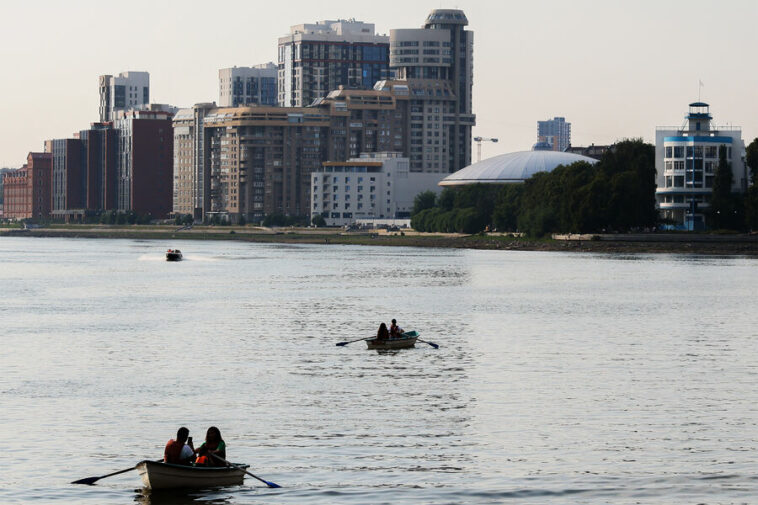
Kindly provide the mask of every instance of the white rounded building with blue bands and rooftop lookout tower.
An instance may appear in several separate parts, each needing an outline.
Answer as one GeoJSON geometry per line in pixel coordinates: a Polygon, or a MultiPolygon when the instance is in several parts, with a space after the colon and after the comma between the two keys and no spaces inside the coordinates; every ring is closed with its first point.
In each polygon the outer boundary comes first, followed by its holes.
{"type": "Polygon", "coordinates": [[[682,126],[656,128],[656,200],[662,216],[678,228],[704,227],[721,147],[732,169],[732,192],[747,191],[742,128],[714,126],[712,119],[707,103],[694,102],[682,126]]]}

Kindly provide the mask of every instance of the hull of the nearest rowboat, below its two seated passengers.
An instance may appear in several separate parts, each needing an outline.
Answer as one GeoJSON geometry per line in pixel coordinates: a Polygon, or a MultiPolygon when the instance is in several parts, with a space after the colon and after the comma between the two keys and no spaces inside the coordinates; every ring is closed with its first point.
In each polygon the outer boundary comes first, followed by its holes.
{"type": "Polygon", "coordinates": [[[249,465],[233,467],[187,466],[140,461],[137,471],[148,489],[205,488],[242,484],[249,465]]]}

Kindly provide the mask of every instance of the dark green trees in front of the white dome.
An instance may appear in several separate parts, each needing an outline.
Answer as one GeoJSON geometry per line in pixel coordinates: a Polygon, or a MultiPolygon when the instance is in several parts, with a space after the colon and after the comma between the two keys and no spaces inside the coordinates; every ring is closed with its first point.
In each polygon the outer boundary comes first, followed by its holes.
{"type": "Polygon", "coordinates": [[[523,184],[445,188],[414,201],[418,231],[477,233],[487,229],[550,233],[629,231],[655,226],[655,148],[625,140],[595,164],[576,162],[539,172],[523,184]]]}

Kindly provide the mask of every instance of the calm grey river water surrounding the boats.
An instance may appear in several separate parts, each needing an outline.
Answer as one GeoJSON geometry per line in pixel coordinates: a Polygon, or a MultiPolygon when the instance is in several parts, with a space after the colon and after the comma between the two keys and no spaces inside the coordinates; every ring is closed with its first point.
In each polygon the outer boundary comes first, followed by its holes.
{"type": "Polygon", "coordinates": [[[754,503],[756,286],[745,258],[0,238],[0,503],[754,503]],[[440,349],[334,345],[392,317],[440,349]],[[68,484],[211,424],[283,488],[68,484]]]}

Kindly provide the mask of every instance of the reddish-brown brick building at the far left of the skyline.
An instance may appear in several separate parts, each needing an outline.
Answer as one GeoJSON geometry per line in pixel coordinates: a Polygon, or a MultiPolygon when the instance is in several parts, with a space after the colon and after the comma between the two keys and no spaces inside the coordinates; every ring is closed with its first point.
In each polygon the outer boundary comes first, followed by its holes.
{"type": "Polygon", "coordinates": [[[29,153],[23,167],[2,175],[4,219],[50,217],[51,161],[50,153],[29,153]]]}

